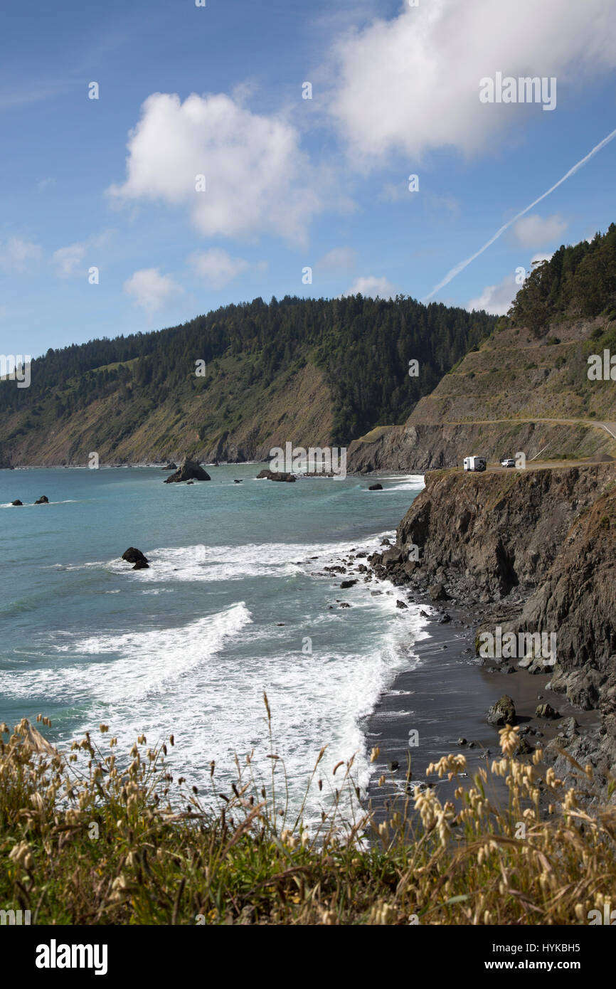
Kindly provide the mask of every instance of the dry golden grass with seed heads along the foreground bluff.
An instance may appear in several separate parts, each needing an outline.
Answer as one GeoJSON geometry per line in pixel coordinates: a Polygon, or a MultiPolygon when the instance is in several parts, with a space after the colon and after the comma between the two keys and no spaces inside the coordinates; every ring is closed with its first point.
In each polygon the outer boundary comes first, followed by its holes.
{"type": "MultiPolygon", "coordinates": [[[[517,729],[501,730],[502,757],[459,785],[455,803],[414,788],[381,824],[358,803],[353,760],[323,780],[321,750],[310,783],[329,810],[310,832],[287,806],[271,723],[267,783],[248,757],[220,793],[212,764],[218,810],[174,779],[173,744],[148,749],[141,736],[123,760],[105,725],[68,756],[26,720],[3,737],[5,909],[30,910],[34,924],[572,925],[612,898],[616,808],[586,813],[540,752],[517,760],[517,729]],[[503,809],[490,796],[496,779],[503,809]]],[[[591,769],[574,765],[587,792],[591,769]]],[[[465,766],[447,756],[428,774],[456,778],[465,766]]]]}

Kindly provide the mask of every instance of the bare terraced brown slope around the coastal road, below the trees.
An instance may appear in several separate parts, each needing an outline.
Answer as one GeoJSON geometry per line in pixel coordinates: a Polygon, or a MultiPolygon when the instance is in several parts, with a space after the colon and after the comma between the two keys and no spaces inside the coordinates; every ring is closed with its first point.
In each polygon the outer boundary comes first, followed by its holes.
{"type": "Polygon", "coordinates": [[[501,460],[518,450],[529,460],[614,455],[614,437],[592,424],[616,420],[612,382],[589,381],[587,361],[613,347],[615,331],[609,317],[562,321],[539,336],[512,325],[494,330],[403,425],[355,440],[347,469],[423,472],[461,466],[468,454],[501,460]]]}

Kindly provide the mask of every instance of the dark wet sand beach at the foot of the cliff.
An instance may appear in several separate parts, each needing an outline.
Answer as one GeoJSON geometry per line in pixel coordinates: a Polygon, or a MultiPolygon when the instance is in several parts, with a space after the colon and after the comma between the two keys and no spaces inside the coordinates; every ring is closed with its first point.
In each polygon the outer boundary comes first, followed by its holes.
{"type": "MultiPolygon", "coordinates": [[[[399,588],[398,588],[399,589],[399,588]]],[[[401,596],[401,595],[400,595],[401,596]]],[[[451,602],[448,602],[450,604],[451,602]]],[[[543,748],[558,734],[563,718],[574,717],[580,726],[598,722],[596,711],[580,711],[572,707],[563,694],[546,689],[549,674],[528,674],[518,670],[517,661],[512,674],[490,673],[475,655],[475,629],[480,622],[473,616],[447,606],[442,611],[429,605],[421,605],[430,614],[429,638],[413,647],[419,657],[414,670],[397,674],[389,690],[382,694],[373,713],[366,719],[364,730],[367,749],[378,747],[380,755],[373,764],[373,775],[368,787],[368,800],[372,803],[377,820],[387,816],[388,803],[405,793],[408,761],[410,779],[415,782],[436,781],[441,801],[452,799],[460,781],[439,780],[436,774],[425,775],[430,763],[436,763],[450,753],[463,754],[467,759],[468,777],[472,782],[478,768],[499,758],[498,729],[487,724],[489,707],[502,694],[508,694],[515,704],[517,724],[528,725],[542,735],[528,735],[533,748],[543,748]],[[444,612],[451,615],[451,622],[439,624],[444,612]],[[470,627],[465,627],[470,626],[470,627]],[[541,698],[541,699],[540,699],[541,698]],[[535,718],[540,703],[550,703],[562,715],[556,721],[535,718]],[[417,745],[409,747],[409,732],[416,731],[417,745]],[[459,739],[474,743],[473,747],[459,745],[459,739]],[[390,764],[398,763],[392,770],[390,764]],[[379,785],[379,778],[386,781],[379,785]]],[[[530,759],[531,757],[526,757],[530,759]]],[[[499,803],[506,789],[504,783],[490,793],[499,803]]]]}

